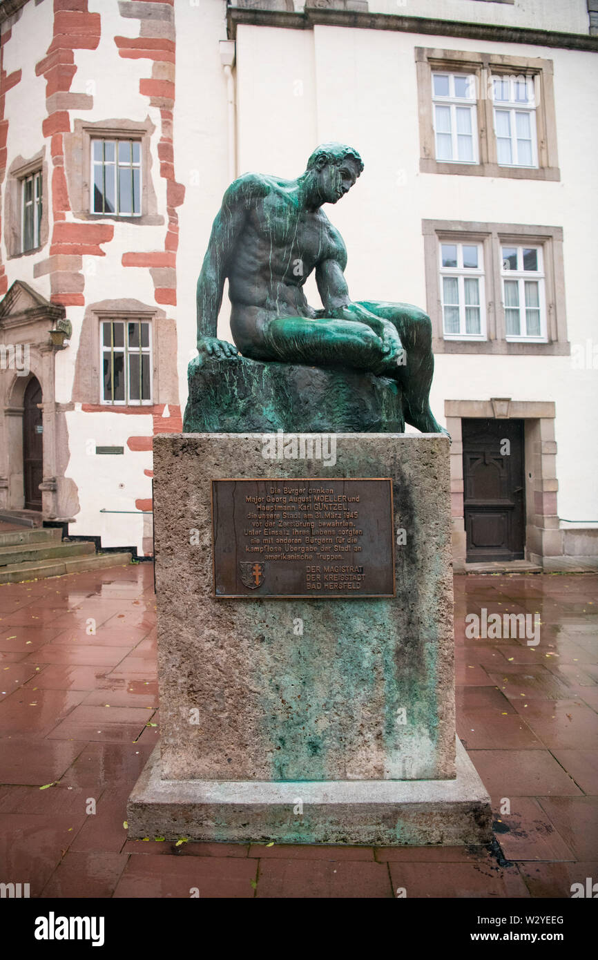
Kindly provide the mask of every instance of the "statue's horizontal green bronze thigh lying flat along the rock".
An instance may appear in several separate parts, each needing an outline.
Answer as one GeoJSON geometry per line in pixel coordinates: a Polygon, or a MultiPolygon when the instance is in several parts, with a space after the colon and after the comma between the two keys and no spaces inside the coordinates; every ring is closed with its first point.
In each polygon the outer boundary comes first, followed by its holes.
{"type": "Polygon", "coordinates": [[[254,360],[277,360],[318,367],[377,370],[383,363],[382,341],[367,324],[344,320],[275,317],[261,328],[259,342],[244,350],[254,360]]]}

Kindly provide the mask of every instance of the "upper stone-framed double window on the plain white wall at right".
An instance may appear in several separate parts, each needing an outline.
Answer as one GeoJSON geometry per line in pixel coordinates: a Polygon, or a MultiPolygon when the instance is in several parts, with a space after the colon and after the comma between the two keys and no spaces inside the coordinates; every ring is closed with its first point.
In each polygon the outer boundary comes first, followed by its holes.
{"type": "Polygon", "coordinates": [[[416,47],[416,68],[422,173],[561,179],[552,60],[416,47]]]}

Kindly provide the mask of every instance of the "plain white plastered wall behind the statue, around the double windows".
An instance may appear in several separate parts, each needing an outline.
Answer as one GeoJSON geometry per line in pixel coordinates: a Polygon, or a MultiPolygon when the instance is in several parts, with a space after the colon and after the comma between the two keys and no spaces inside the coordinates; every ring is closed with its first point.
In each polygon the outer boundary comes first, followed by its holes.
{"type": "MultiPolygon", "coordinates": [[[[255,26],[238,27],[236,55],[240,173],[297,176],[317,143],[326,140],[347,142],[364,158],[365,171],[355,188],[327,208],[347,243],[354,300],[425,306],[422,219],[559,226],[568,338],[573,345],[595,337],[589,306],[598,295],[592,256],[598,147],[591,120],[598,96],[594,55],[446,36],[255,26]],[[419,173],[416,46],[553,60],[562,180],[419,173]],[[294,95],[298,81],[306,91],[300,107],[294,95]]],[[[214,200],[216,212],[219,199],[214,200]]],[[[205,229],[203,249],[207,236],[205,229]]],[[[310,281],[306,289],[308,299],[316,300],[310,281]]],[[[444,399],[554,400],[559,514],[591,520],[598,517],[592,480],[598,451],[586,438],[598,429],[597,376],[594,370],[575,370],[567,356],[444,354],[436,360],[432,406],[442,420],[444,399]]]]}

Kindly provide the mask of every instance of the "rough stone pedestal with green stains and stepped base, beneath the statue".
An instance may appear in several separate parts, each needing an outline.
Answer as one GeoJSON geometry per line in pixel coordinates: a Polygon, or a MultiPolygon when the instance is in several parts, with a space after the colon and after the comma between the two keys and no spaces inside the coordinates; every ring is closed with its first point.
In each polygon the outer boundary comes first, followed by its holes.
{"type": "Polygon", "coordinates": [[[161,740],[131,836],[490,839],[486,791],[455,763],[448,440],[335,440],[326,465],[265,459],[261,434],[155,438],[161,740]],[[216,599],[211,481],[229,477],[391,478],[395,597],[216,599]]]}

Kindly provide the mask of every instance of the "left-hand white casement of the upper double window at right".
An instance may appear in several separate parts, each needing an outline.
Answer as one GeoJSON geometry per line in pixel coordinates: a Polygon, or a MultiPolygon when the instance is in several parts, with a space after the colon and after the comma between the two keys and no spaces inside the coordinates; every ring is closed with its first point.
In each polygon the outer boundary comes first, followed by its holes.
{"type": "Polygon", "coordinates": [[[475,78],[467,74],[434,73],[432,92],[437,158],[477,163],[475,78]]]}

